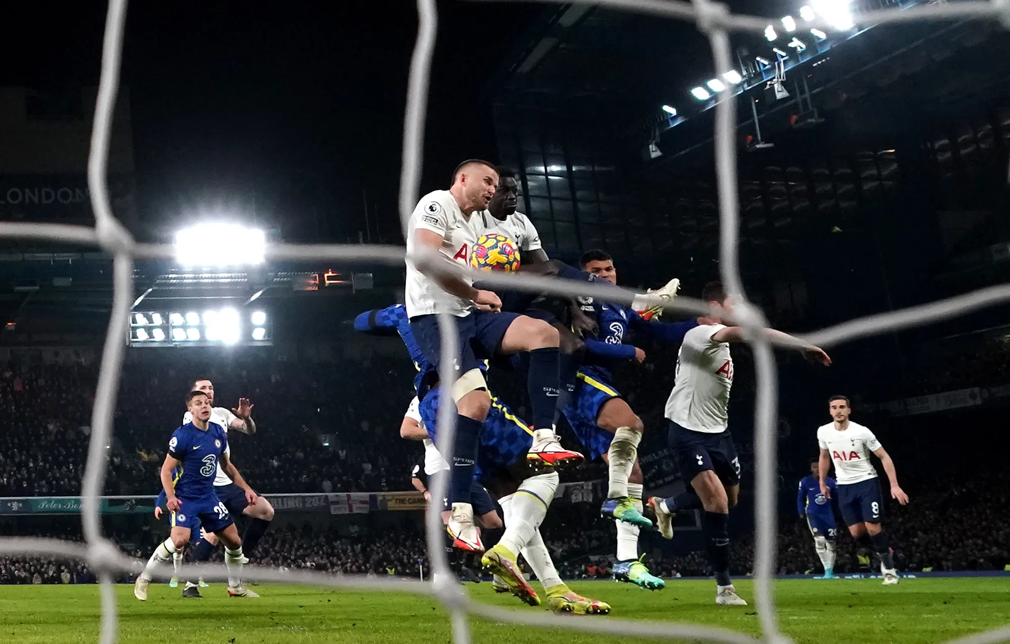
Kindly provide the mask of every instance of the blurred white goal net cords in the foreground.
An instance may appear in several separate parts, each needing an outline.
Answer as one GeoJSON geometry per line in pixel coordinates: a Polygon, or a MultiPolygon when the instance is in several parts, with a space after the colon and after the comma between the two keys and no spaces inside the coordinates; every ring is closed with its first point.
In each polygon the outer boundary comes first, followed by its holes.
{"type": "MultiPolygon", "coordinates": [[[[577,0],[578,1],[578,0],[577,0]]],[[[770,23],[769,19],[734,15],[727,8],[709,0],[682,2],[678,0],[601,0],[594,2],[628,11],[654,15],[659,18],[676,18],[697,23],[698,28],[709,38],[715,69],[733,69],[730,64],[730,30],[746,30],[761,33],[770,23]]],[[[82,486],[82,518],[86,545],[75,545],[64,541],[39,538],[0,538],[0,553],[5,554],[53,554],[87,561],[96,571],[101,588],[102,621],[99,640],[103,644],[116,641],[117,614],[113,575],[134,569],[135,560],[122,555],[109,541],[102,537],[99,502],[105,482],[107,451],[112,431],[112,416],[116,404],[116,394],[122,370],[125,349],[125,331],[130,303],[133,298],[132,269],[134,258],[171,258],[174,248],[169,245],[136,243],[112,213],[106,183],[109,139],[112,131],[113,107],[119,82],[119,70],[123,44],[123,25],[126,17],[126,0],[111,0],[105,25],[102,53],[101,82],[95,109],[92,131],[91,153],[88,159],[88,188],[92,209],[95,213],[95,227],[68,226],[59,224],[0,223],[0,236],[12,238],[45,239],[74,244],[97,245],[111,253],[113,259],[114,291],[112,313],[109,320],[105,348],[102,353],[101,370],[95,395],[92,415],[92,434],[88,452],[88,462],[82,486]]],[[[400,213],[404,225],[418,198],[421,176],[423,124],[428,100],[429,72],[435,46],[437,13],[435,0],[417,0],[418,34],[410,65],[406,115],[403,136],[403,169],[400,183],[400,213]]],[[[908,9],[887,9],[870,11],[854,16],[856,23],[869,25],[884,22],[905,22],[910,20],[952,20],[952,19],[998,19],[1010,26],[1010,0],[972,1],[937,3],[915,6],[908,9]]],[[[829,28],[823,20],[814,20],[809,26],[829,28]]],[[[761,622],[762,640],[767,642],[789,641],[778,625],[773,573],[776,569],[776,435],[777,415],[777,371],[772,353],[772,342],[760,333],[765,326],[762,313],[750,305],[743,296],[739,275],[737,241],[739,232],[737,182],[736,182],[736,103],[729,93],[717,95],[715,119],[715,162],[719,190],[721,278],[729,291],[740,296],[736,306],[736,322],[747,328],[754,355],[754,370],[758,382],[754,418],[755,470],[755,551],[754,551],[754,597],[761,622]]],[[[339,259],[345,262],[368,261],[398,264],[404,260],[405,251],[401,247],[343,244],[284,244],[268,246],[268,259],[339,259]]],[[[425,261],[429,257],[415,257],[423,270],[441,271],[435,262],[425,261]]],[[[565,283],[546,278],[481,274],[484,282],[498,286],[535,292],[550,292],[559,295],[583,295],[605,297],[608,301],[631,304],[633,293],[617,291],[610,287],[589,284],[565,283]],[[615,295],[615,293],[617,295],[615,295]]],[[[1001,302],[1010,301],[1010,286],[983,289],[961,297],[935,302],[846,322],[807,335],[804,339],[812,343],[829,346],[856,337],[881,334],[914,325],[928,324],[941,319],[961,315],[969,311],[1001,302]]],[[[654,304],[660,304],[655,302],[654,304]]],[[[683,313],[704,313],[707,309],[698,300],[677,298],[673,303],[663,303],[668,309],[683,313]]],[[[456,335],[450,332],[448,320],[440,319],[442,330],[443,356],[451,356],[456,350],[456,335]]],[[[442,364],[451,359],[443,357],[442,364]]],[[[443,368],[439,373],[443,384],[451,384],[451,369],[443,368]]],[[[448,405],[448,397],[442,398],[448,405]]],[[[454,415],[439,409],[438,447],[446,458],[450,458],[454,415]]],[[[437,480],[432,496],[444,496],[444,477],[437,480]]],[[[625,637],[648,637],[667,639],[693,639],[714,642],[753,642],[749,635],[710,626],[683,623],[647,623],[623,620],[571,620],[554,617],[546,613],[508,611],[471,601],[462,586],[452,580],[445,552],[441,547],[442,526],[439,513],[429,508],[426,516],[428,551],[433,570],[441,579],[435,583],[385,580],[357,576],[335,577],[320,572],[288,571],[280,572],[255,566],[245,569],[244,576],[266,581],[296,582],[315,585],[343,586],[383,592],[405,592],[417,595],[433,595],[451,615],[452,634],[458,644],[470,641],[467,623],[469,615],[481,616],[499,622],[511,622],[528,626],[565,627],[589,633],[613,634],[625,637]]],[[[225,579],[224,566],[201,567],[203,576],[209,579],[225,579]]],[[[985,644],[1010,639],[1010,627],[994,629],[956,640],[957,644],[985,644]]]]}

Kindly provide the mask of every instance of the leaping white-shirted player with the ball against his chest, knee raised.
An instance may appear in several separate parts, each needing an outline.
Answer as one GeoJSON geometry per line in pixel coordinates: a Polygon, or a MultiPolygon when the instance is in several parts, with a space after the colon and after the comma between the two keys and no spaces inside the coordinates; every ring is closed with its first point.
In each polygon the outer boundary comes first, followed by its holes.
{"type": "Polygon", "coordinates": [[[447,498],[452,510],[448,529],[457,547],[478,552],[484,545],[474,523],[471,484],[482,426],[491,408],[481,360],[528,352],[527,391],[536,427],[528,455],[550,464],[582,459],[582,454],[563,448],[553,431],[559,395],[558,331],[542,320],[500,312],[498,296],[475,289],[469,279],[447,274],[429,278],[409,256],[426,248],[467,265],[478,236],[471,215],[487,208],[497,185],[493,165],[464,162],[452,173],[449,190],[425,195],[407,223],[406,310],[414,338],[434,369],[441,360],[437,314],[447,313],[456,323],[460,353],[453,356],[453,367],[458,379],[449,394],[458,414],[447,498]]]}

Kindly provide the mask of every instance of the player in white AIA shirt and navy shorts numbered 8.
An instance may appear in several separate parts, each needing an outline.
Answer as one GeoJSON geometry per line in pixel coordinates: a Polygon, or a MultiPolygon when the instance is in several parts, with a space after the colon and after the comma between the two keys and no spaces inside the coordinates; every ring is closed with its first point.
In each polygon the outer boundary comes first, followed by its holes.
{"type": "Polygon", "coordinates": [[[874,433],[848,420],[852,411],[848,399],[844,396],[832,396],[828,401],[828,411],[834,420],[817,428],[820,492],[824,497],[831,498],[827,472],[833,462],[838,480],[838,509],[848,526],[848,533],[856,543],[866,544],[869,540],[881,560],[884,584],[895,585],[899,580],[898,571],[894,567],[894,555],[888,545],[887,535],[881,528],[884,495],[881,494],[880,477],[870,461],[870,452],[877,454],[884,465],[884,471],[891,481],[891,498],[904,506],[908,503],[908,495],[898,486],[894,461],[874,433]]]}

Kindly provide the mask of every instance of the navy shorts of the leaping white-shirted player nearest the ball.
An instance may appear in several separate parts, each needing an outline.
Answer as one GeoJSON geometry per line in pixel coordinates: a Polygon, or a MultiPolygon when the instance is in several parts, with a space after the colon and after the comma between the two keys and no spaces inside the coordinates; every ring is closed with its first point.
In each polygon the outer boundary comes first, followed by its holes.
{"type": "MultiPolygon", "coordinates": [[[[488,313],[474,311],[467,316],[449,316],[456,323],[460,343],[460,357],[456,367],[459,375],[480,368],[484,360],[494,357],[509,325],[518,313],[488,313]]],[[[441,361],[441,337],[438,335],[437,315],[418,315],[410,319],[410,330],[417,346],[434,368],[441,361]]]]}

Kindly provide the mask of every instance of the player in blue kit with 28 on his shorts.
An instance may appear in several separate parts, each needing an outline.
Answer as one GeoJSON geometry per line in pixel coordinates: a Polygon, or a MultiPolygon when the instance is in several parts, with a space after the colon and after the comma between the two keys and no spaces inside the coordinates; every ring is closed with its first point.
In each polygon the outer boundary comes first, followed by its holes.
{"type": "Polygon", "coordinates": [[[147,585],[155,568],[168,563],[172,555],[189,543],[192,528],[199,520],[207,533],[214,533],[224,542],[224,563],[228,568],[228,595],[256,597],[241,582],[242,542],[228,509],[214,493],[214,475],[218,463],[242,490],[245,502],[255,506],[259,501],[256,492],[242,479],[228,458],[228,436],[224,428],[210,420],[210,399],[203,392],[191,392],[186,398],[186,408],[193,419],[172,434],[169,453],[162,463],[162,488],[168,498],[172,513],[172,532],[169,538],[155,548],[143,572],[133,584],[133,597],[145,602],[147,585]],[[173,480],[173,471],[181,472],[173,480]]]}

